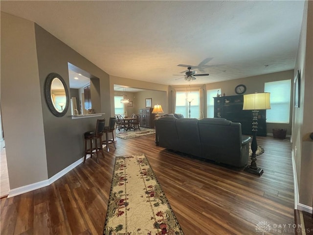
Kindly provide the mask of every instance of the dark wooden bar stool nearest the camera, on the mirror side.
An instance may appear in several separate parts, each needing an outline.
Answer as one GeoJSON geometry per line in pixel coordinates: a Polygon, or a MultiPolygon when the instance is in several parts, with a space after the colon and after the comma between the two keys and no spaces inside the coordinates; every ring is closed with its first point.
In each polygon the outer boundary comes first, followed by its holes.
{"type": "Polygon", "coordinates": [[[105,127],[105,122],[106,120],[103,119],[97,119],[97,123],[96,123],[96,129],[93,131],[87,131],[84,133],[84,137],[85,137],[85,156],[84,156],[84,163],[86,161],[87,158],[87,154],[90,154],[90,158],[92,158],[92,154],[96,154],[96,161],[98,163],[98,153],[101,152],[102,156],[104,156],[104,152],[102,149],[102,136],[103,136],[103,130],[105,127]],[[90,142],[90,147],[87,148],[87,143],[88,141],[90,142]],[[92,146],[92,141],[95,142],[95,146],[92,146]],[[99,146],[99,145],[100,146],[99,146]],[[95,152],[93,152],[93,150],[95,150],[95,152]]]}

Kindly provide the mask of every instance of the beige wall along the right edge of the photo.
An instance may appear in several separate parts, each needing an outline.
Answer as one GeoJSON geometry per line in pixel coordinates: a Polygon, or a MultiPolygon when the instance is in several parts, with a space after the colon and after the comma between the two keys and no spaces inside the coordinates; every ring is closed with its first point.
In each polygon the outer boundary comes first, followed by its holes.
{"type": "MultiPolygon", "coordinates": [[[[313,1],[304,5],[294,74],[301,71],[300,107],[294,108],[292,152],[297,173],[299,203],[313,207],[313,1]]],[[[308,211],[308,210],[307,210],[308,211]]]]}

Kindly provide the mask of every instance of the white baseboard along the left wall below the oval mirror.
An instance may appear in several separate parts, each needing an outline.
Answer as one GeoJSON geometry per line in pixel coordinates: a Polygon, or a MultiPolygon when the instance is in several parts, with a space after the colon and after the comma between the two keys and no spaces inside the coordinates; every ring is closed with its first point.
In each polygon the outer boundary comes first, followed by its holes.
{"type": "MultiPolygon", "coordinates": [[[[87,156],[87,159],[90,157],[87,156]]],[[[13,188],[9,190],[9,197],[14,197],[17,195],[20,195],[22,193],[25,192],[29,192],[38,188],[43,188],[46,187],[48,185],[51,185],[54,181],[60,179],[62,176],[64,176],[67,172],[69,172],[70,170],[74,169],[77,165],[81,164],[84,162],[84,157],[82,157],[81,159],[77,160],[76,162],[70,164],[69,166],[67,166],[66,168],[64,168],[63,170],[61,170],[60,172],[56,173],[54,176],[52,176],[51,178],[47,179],[47,180],[43,180],[34,184],[30,184],[30,185],[25,185],[19,188],[13,188]]]]}

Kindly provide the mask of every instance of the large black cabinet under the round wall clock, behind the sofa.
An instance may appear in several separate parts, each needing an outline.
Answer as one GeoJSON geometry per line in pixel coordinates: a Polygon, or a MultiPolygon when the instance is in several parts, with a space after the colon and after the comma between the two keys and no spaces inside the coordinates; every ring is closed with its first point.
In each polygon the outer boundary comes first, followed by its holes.
{"type": "MultiPolygon", "coordinates": [[[[232,122],[240,122],[243,135],[252,133],[252,111],[243,110],[244,95],[214,97],[214,118],[226,118],[232,122]]],[[[258,113],[258,136],[266,136],[266,110],[258,113]]]]}

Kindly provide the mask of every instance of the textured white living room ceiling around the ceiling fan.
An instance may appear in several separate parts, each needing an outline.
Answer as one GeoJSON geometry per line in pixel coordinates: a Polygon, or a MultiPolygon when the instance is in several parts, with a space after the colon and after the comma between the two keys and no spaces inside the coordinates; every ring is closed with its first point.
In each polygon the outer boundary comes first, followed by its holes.
{"type": "Polygon", "coordinates": [[[300,0],[0,4],[110,75],[165,85],[188,84],[181,64],[210,73],[193,84],[293,69],[304,7],[300,0]]]}

